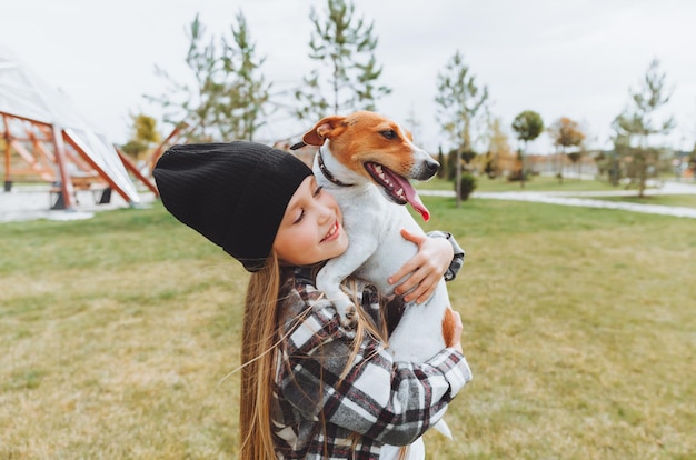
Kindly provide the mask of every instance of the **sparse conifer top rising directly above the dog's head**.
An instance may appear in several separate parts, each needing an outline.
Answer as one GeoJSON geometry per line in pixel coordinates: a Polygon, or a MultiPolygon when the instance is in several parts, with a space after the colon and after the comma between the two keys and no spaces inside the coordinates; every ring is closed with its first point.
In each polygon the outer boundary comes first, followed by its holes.
{"type": "Polygon", "coordinates": [[[381,67],[375,59],[377,38],[372,23],[355,18],[355,6],[346,0],[327,0],[328,11],[320,17],[315,8],[309,18],[314,24],[309,57],[324,71],[314,69],[304,78],[304,87],[295,91],[299,119],[318,120],[328,110],[375,110],[375,102],[391,90],[378,86],[381,67]],[[322,22],[324,21],[324,22],[322,22]]]}

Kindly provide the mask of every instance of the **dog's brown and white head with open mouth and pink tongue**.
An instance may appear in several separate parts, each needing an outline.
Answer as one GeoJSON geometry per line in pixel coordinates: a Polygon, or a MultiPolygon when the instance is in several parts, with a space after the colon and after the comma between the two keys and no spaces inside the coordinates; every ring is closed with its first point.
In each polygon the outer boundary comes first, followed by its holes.
{"type": "Polygon", "coordinates": [[[309,146],[328,141],[330,153],[341,164],[374,182],[389,200],[408,202],[426,221],[430,218],[408,180],[428,180],[440,164],[397,122],[368,111],[330,116],[305,133],[302,141],[309,146]]]}

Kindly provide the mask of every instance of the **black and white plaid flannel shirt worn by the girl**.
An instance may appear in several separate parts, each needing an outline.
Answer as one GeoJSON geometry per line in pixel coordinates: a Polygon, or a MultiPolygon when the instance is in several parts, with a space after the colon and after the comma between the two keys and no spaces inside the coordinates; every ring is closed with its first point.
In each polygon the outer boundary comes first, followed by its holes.
{"type": "MultiPolygon", "coordinates": [[[[358,303],[379,326],[374,287],[358,303]]],[[[307,268],[289,277],[279,308],[276,388],[271,402],[278,459],[378,459],[381,446],[408,446],[439,421],[471,379],[461,353],[445,349],[421,364],[395,362],[366,334],[354,362],[352,337],[307,268]]]]}

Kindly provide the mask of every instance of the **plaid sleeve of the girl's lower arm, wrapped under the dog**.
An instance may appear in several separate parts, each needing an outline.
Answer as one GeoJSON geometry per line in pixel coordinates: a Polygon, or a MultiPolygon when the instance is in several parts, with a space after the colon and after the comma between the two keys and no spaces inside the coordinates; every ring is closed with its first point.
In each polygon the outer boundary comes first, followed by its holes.
{"type": "Polygon", "coordinates": [[[444,349],[425,363],[395,362],[367,334],[352,357],[351,337],[325,299],[287,331],[278,391],[302,417],[406,446],[443,418],[471,379],[465,357],[455,349],[444,349]]]}

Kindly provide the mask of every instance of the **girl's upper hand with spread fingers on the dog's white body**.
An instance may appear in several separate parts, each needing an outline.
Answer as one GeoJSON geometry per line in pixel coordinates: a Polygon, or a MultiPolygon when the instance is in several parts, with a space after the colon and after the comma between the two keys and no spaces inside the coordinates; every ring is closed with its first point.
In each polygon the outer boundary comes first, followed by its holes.
{"type": "Polygon", "coordinates": [[[395,293],[404,296],[407,302],[425,302],[435,291],[438,282],[445,276],[454,257],[454,249],[445,238],[429,238],[424,234],[411,233],[401,229],[401,237],[418,246],[418,253],[404,264],[396,273],[389,277],[394,284],[407,277],[396,287],[395,293]]]}

